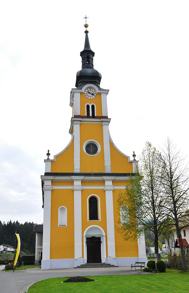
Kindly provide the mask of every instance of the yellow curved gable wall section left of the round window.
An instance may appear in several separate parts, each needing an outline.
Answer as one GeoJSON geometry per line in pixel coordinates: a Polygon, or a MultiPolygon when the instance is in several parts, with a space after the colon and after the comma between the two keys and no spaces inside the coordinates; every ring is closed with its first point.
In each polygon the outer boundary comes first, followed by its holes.
{"type": "Polygon", "coordinates": [[[51,162],[51,172],[74,172],[74,138],[69,147],[51,162]]]}

